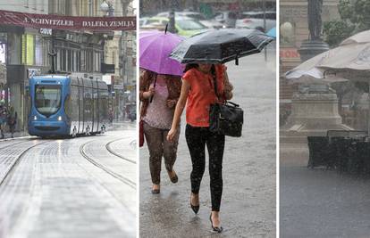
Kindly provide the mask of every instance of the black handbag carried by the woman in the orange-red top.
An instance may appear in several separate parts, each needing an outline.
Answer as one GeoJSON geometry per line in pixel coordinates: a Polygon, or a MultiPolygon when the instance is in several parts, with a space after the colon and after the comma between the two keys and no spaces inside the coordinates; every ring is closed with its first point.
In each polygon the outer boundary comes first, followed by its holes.
{"type": "MultiPolygon", "coordinates": [[[[214,93],[217,94],[217,82],[214,76],[214,93]]],[[[211,104],[209,109],[209,130],[222,135],[241,136],[244,111],[236,103],[211,104]]]]}

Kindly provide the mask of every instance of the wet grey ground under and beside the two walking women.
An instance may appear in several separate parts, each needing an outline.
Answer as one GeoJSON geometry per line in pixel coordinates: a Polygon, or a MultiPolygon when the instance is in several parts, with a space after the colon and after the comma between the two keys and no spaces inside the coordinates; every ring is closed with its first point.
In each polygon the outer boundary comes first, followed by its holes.
{"type": "Polygon", "coordinates": [[[213,234],[209,214],[208,159],[200,187],[200,209],[189,206],[191,162],[185,141],[185,111],[181,119],[179,176],[172,184],[162,166],[161,193],[151,193],[147,144],[140,149],[140,237],[275,237],[275,50],[227,63],[234,97],[244,110],[243,135],[226,137],[223,156],[223,234],[213,234]]]}

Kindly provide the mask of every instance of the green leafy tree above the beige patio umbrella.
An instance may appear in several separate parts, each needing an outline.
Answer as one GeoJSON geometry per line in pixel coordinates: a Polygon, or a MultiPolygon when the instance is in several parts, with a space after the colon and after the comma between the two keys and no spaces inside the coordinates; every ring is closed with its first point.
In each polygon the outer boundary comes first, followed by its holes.
{"type": "Polygon", "coordinates": [[[345,38],[370,29],[370,0],[340,0],[338,11],[340,20],[324,23],[323,33],[329,45],[339,45],[345,38]]]}

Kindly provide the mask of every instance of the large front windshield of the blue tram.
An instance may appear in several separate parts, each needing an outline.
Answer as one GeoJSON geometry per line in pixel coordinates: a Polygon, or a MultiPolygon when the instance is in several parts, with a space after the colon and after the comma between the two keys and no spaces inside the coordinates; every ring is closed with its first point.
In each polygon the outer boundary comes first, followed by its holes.
{"type": "Polygon", "coordinates": [[[62,87],[54,85],[35,86],[35,107],[46,117],[55,114],[61,107],[62,87]]]}

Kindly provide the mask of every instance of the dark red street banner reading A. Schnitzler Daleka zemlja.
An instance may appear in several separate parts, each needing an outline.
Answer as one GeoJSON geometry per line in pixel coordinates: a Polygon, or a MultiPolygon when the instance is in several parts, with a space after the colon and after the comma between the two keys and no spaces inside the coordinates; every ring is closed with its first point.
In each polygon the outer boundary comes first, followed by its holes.
{"type": "Polygon", "coordinates": [[[136,17],[71,17],[0,10],[0,24],[38,29],[136,30],[136,17]]]}

